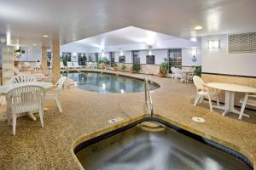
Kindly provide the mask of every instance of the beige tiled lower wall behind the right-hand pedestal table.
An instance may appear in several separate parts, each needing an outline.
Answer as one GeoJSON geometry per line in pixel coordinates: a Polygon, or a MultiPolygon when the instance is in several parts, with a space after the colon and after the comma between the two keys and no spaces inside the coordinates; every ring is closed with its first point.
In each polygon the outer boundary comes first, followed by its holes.
{"type": "MultiPolygon", "coordinates": [[[[232,76],[223,76],[223,75],[213,75],[213,74],[202,74],[201,75],[204,82],[227,82],[241,84],[249,87],[256,88],[256,77],[232,77],[232,76]]],[[[236,105],[241,105],[239,100],[243,97],[244,94],[236,93],[235,102],[236,105]]],[[[219,99],[221,102],[224,102],[224,92],[219,94],[219,99]]],[[[255,109],[255,108],[254,108],[255,109]]]]}

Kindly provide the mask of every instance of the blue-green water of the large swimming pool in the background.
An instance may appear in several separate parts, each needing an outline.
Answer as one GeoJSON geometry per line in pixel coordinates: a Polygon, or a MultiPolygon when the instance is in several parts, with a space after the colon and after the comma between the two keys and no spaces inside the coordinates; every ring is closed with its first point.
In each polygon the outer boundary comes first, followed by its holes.
{"type": "MultiPolygon", "coordinates": [[[[67,77],[72,78],[74,82],[79,82],[76,86],[83,90],[121,94],[144,91],[144,82],[130,77],[96,72],[68,73],[67,77]]],[[[159,86],[150,83],[149,88],[154,90],[159,86]]]]}

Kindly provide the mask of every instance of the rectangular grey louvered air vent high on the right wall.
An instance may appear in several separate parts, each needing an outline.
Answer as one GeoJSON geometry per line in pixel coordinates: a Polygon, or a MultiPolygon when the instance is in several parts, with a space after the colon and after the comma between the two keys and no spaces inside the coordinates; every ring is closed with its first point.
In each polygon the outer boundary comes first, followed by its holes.
{"type": "Polygon", "coordinates": [[[256,32],[229,35],[230,54],[256,54],[256,32]]]}

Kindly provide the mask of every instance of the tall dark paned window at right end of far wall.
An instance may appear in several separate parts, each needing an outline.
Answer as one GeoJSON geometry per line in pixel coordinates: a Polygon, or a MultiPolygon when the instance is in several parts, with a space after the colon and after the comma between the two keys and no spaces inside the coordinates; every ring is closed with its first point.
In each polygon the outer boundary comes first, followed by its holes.
{"type": "Polygon", "coordinates": [[[172,73],[171,67],[182,68],[182,49],[172,48],[168,50],[169,73],[172,73]]]}

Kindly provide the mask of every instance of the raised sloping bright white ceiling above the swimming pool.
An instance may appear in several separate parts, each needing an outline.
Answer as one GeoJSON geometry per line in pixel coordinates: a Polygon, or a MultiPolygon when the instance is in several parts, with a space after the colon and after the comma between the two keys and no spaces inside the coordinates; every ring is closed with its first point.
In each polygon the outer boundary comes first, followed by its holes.
{"type": "Polygon", "coordinates": [[[199,42],[168,36],[155,31],[143,30],[128,26],[119,30],[109,31],[98,36],[88,37],[77,42],[61,46],[62,51],[85,50],[90,53],[143,50],[148,48],[191,48],[200,47],[199,42]]]}

